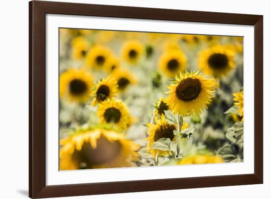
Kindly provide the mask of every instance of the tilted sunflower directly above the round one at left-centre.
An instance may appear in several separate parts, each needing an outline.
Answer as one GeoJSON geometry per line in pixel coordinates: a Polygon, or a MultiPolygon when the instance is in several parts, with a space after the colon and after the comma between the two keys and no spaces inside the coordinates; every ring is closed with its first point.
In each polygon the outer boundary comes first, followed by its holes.
{"type": "Polygon", "coordinates": [[[114,78],[108,76],[106,79],[101,79],[94,89],[92,106],[96,106],[97,103],[102,103],[104,100],[115,97],[118,91],[117,87],[117,81],[114,78]]]}

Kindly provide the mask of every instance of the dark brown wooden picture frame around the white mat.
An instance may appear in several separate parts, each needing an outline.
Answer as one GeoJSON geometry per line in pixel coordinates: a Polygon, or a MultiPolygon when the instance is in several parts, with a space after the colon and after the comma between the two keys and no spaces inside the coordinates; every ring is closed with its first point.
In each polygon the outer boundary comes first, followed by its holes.
{"type": "Polygon", "coordinates": [[[29,197],[49,198],[263,183],[263,16],[144,7],[29,2],[29,197]],[[46,186],[45,15],[67,14],[254,26],[254,173],[46,186]]]}

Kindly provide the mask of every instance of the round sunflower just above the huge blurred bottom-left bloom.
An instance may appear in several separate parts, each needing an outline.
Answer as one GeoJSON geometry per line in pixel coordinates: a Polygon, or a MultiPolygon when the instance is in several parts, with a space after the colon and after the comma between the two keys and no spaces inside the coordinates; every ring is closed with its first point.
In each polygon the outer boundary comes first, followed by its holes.
{"type": "Polygon", "coordinates": [[[106,100],[98,106],[98,118],[101,123],[113,123],[119,129],[125,130],[130,124],[130,114],[121,100],[106,100]]]}

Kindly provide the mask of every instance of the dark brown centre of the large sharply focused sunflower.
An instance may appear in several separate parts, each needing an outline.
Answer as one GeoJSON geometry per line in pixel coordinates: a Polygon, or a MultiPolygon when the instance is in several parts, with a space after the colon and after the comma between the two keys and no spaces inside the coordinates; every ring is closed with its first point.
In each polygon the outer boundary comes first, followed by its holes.
{"type": "Polygon", "coordinates": [[[176,87],[176,95],[179,100],[192,101],[197,99],[202,90],[202,84],[198,79],[187,78],[176,87]]]}

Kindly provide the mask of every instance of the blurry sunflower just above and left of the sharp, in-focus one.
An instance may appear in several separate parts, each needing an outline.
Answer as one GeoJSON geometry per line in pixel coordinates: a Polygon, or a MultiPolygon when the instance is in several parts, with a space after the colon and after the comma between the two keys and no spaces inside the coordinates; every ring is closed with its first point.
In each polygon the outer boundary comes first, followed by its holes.
{"type": "Polygon", "coordinates": [[[162,72],[168,77],[173,78],[179,71],[186,70],[187,58],[180,50],[164,52],[158,61],[162,72]]]}

